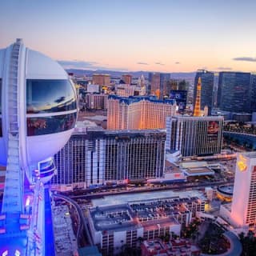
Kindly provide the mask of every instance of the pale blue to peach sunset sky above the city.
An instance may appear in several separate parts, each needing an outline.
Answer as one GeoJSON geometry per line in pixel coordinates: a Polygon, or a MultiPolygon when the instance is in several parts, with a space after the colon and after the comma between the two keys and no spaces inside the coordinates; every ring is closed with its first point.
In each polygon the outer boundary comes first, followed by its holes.
{"type": "Polygon", "coordinates": [[[256,71],[254,0],[1,0],[15,38],[66,67],[256,71]]]}

